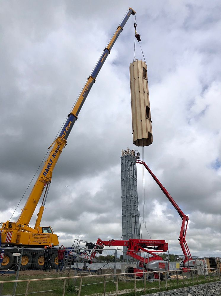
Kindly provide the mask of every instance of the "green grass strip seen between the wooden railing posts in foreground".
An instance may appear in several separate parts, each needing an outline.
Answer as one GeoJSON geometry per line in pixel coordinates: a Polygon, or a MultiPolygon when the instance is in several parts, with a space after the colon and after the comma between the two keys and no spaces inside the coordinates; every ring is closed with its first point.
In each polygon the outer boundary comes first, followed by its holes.
{"type": "MultiPolygon", "coordinates": [[[[65,277],[67,276],[66,273],[53,273],[50,274],[42,274],[42,275],[22,275],[19,279],[37,279],[37,278],[53,278],[49,281],[32,281],[29,284],[29,293],[33,293],[31,295],[44,295],[44,296],[60,296],[63,293],[63,286],[64,286],[64,279],[56,280],[57,277],[65,277]],[[49,291],[55,290],[55,291],[49,291]],[[40,291],[48,291],[42,293],[35,293],[40,291]]],[[[72,276],[72,274],[70,274],[72,276]]],[[[7,283],[9,280],[14,280],[15,275],[10,275],[4,277],[4,285],[3,285],[3,295],[12,294],[14,283],[7,283]]],[[[83,295],[93,295],[93,294],[103,294],[104,292],[104,279],[106,281],[105,285],[105,292],[114,294],[116,292],[116,282],[114,282],[114,278],[111,275],[99,276],[99,277],[82,277],[82,286],[81,286],[81,296],[83,295]]],[[[218,278],[217,278],[218,279],[218,278]]],[[[0,280],[3,280],[3,277],[0,277],[0,280]]],[[[210,277],[210,282],[216,281],[215,278],[210,277]]],[[[179,280],[177,285],[176,279],[171,279],[167,281],[168,290],[183,288],[187,286],[197,285],[197,284],[204,284],[208,283],[209,278],[204,279],[204,276],[198,276],[197,278],[194,277],[194,284],[192,283],[192,278],[185,278],[185,284],[183,285],[182,279],[179,280]]],[[[160,281],[161,284],[161,291],[166,291],[166,282],[160,281]]],[[[65,289],[65,296],[73,296],[78,295],[78,289],[80,285],[80,278],[68,278],[66,279],[66,289],[65,289]]],[[[25,294],[27,282],[18,282],[16,294],[25,294]]],[[[136,279],[136,293],[134,293],[134,279],[128,279],[119,276],[118,280],[118,292],[125,292],[125,296],[140,296],[144,294],[150,294],[159,292],[159,282],[154,281],[152,283],[146,282],[146,293],[144,293],[144,280],[136,279]]]]}

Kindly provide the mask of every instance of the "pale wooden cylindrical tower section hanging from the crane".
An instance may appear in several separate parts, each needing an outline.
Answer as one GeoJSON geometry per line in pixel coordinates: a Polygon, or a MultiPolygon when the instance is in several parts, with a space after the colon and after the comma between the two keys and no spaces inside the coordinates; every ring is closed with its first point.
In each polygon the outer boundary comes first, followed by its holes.
{"type": "Polygon", "coordinates": [[[130,93],[134,145],[148,146],[153,143],[153,135],[147,65],[142,60],[136,59],[130,64],[130,93]]]}

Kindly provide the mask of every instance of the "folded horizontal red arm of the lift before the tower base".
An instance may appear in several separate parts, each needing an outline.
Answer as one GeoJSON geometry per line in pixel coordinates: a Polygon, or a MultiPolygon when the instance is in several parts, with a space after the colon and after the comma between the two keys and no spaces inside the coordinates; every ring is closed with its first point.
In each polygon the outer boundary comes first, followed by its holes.
{"type": "MultiPolygon", "coordinates": [[[[92,252],[92,257],[96,256],[97,251],[103,246],[112,247],[112,246],[126,246],[128,248],[126,255],[135,258],[141,262],[145,262],[145,259],[142,256],[139,256],[137,253],[146,252],[150,253],[155,259],[162,260],[162,258],[155,253],[166,252],[168,250],[168,243],[165,240],[158,239],[129,239],[129,240],[115,240],[111,239],[109,241],[103,241],[101,239],[97,240],[94,251],[92,252]],[[146,249],[151,249],[146,250],[146,249]]],[[[147,263],[147,262],[145,262],[147,263]]]]}

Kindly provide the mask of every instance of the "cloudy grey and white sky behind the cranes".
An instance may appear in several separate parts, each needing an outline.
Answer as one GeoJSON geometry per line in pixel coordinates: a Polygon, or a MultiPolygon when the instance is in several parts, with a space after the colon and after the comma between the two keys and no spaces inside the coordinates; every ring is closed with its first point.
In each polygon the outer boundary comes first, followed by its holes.
{"type": "MultiPolygon", "coordinates": [[[[129,6],[148,65],[153,144],[143,159],[189,215],[192,255],[220,256],[219,0],[1,1],[1,221],[14,212],[129,6]]],[[[52,225],[65,246],[74,238],[121,238],[121,149],[142,152],[132,139],[133,22],[131,16],[113,46],[53,172],[41,225],[52,225]]],[[[139,44],[136,58],[143,59],[139,44]]],[[[137,170],[142,215],[141,165],[137,170]]],[[[182,254],[182,221],[147,171],[145,209],[151,238],[182,254]]],[[[144,225],[142,238],[149,238],[144,225]]]]}

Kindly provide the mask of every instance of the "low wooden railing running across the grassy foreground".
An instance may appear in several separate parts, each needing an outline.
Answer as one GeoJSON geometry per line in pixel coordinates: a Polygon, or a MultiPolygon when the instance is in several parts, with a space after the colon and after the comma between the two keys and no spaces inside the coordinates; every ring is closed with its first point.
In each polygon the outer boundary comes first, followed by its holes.
{"type": "MultiPolygon", "coordinates": [[[[74,293],[78,296],[105,293],[108,295],[118,295],[136,292],[161,292],[171,289],[202,284],[205,282],[221,281],[220,269],[213,268],[210,272],[204,269],[191,269],[188,271],[164,271],[164,272],[143,272],[140,274],[122,273],[106,275],[82,275],[77,276],[57,276],[51,278],[35,278],[0,281],[0,295],[31,295],[34,293],[44,293],[44,296],[70,295],[74,293]],[[199,274],[200,273],[200,274],[199,274]],[[188,276],[189,275],[189,276],[188,276]],[[15,289],[16,284],[16,289],[15,289]]],[[[62,274],[61,274],[62,275],[62,274]]]]}

